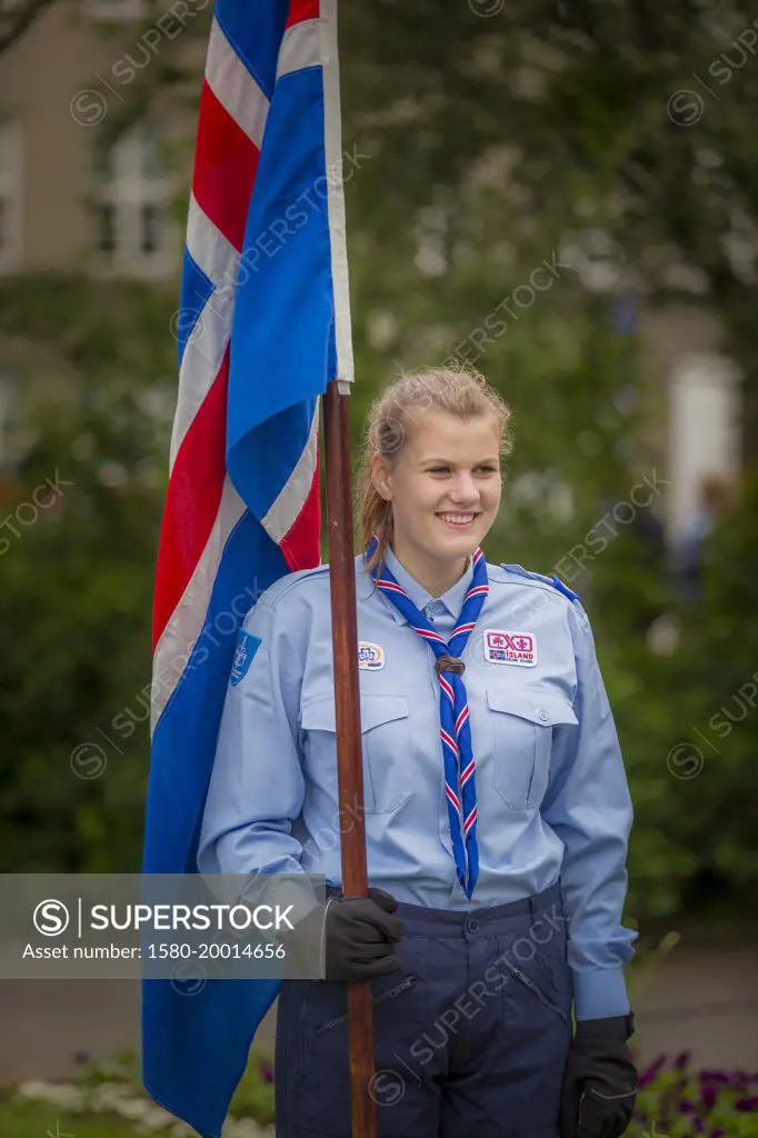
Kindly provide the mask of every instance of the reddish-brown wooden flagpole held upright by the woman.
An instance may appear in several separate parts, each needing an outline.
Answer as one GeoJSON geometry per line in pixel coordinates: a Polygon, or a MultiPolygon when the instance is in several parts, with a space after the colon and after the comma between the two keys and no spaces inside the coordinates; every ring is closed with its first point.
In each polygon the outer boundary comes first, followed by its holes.
{"type": "MultiPolygon", "coordinates": [[[[323,397],[327,520],[339,817],[351,819],[349,825],[340,826],[343,890],[346,896],[365,897],[369,880],[363,813],[348,398],[347,395],[340,395],[336,381],[329,384],[323,397]]],[[[347,984],[347,1023],[353,1138],[377,1138],[377,1106],[371,1095],[374,1048],[370,980],[347,984]]]]}

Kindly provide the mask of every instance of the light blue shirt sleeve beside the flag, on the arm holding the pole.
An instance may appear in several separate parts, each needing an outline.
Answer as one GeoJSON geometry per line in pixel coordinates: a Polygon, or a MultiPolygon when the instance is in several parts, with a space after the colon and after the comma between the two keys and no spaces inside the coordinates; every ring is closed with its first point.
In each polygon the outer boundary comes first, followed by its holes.
{"type": "MultiPolygon", "coordinates": [[[[297,743],[304,663],[281,609],[265,599],[244,630],[259,644],[226,690],[197,865],[203,874],[302,874],[293,823],[305,797],[297,743]]],[[[293,884],[287,899],[307,899],[306,909],[316,904],[310,889],[293,891],[293,884]]]]}

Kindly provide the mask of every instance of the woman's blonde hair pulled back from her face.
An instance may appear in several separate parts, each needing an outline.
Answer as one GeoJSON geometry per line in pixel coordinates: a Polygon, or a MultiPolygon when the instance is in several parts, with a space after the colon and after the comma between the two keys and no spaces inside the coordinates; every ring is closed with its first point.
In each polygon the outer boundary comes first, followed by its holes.
{"type": "Polygon", "coordinates": [[[497,422],[501,457],[511,452],[508,429],[511,409],[480,372],[469,368],[430,368],[402,374],[371,404],[356,479],[356,506],[362,549],[376,534],[378,545],[366,569],[380,567],[394,533],[393,504],[371,480],[371,461],[380,454],[388,463],[409,439],[413,411],[446,411],[458,419],[491,414],[497,422]]]}

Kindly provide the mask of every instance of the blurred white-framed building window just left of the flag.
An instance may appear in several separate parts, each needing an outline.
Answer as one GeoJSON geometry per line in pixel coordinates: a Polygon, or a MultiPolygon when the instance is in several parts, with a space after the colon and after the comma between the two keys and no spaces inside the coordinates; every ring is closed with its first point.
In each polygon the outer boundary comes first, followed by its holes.
{"type": "Polygon", "coordinates": [[[96,152],[94,178],[93,244],[102,267],[143,277],[175,271],[172,184],[149,124],[137,124],[108,151],[96,152]]]}

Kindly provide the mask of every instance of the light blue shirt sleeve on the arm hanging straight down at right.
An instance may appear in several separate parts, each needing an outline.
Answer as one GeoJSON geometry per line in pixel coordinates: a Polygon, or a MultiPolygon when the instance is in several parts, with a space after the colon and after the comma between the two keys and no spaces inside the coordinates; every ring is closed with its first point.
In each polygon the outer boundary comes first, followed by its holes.
{"type": "Polygon", "coordinates": [[[577,1020],[626,1015],[624,965],[636,933],[621,925],[632,800],[590,622],[570,605],[578,726],[554,728],[542,816],[563,842],[561,893],[577,1020]]]}

